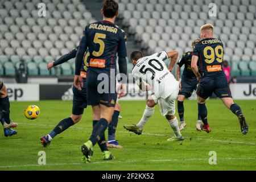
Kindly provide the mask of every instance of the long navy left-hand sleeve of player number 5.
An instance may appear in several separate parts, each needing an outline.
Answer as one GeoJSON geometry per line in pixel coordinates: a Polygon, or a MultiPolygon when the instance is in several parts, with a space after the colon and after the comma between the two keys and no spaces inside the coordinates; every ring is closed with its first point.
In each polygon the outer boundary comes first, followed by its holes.
{"type": "Polygon", "coordinates": [[[88,47],[88,41],[87,41],[87,35],[86,35],[87,27],[88,26],[85,27],[84,33],[82,34],[82,39],[79,44],[79,48],[77,49],[75,75],[80,75],[80,68],[82,66],[82,60],[84,58],[85,50],[88,47]]]}

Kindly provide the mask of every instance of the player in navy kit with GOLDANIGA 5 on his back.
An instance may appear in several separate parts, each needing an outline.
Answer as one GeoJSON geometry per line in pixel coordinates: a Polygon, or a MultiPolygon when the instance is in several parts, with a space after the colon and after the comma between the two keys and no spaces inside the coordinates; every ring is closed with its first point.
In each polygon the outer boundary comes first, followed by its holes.
{"type": "MultiPolygon", "coordinates": [[[[87,101],[93,109],[93,131],[89,140],[82,144],[82,160],[90,162],[93,146],[100,142],[104,160],[114,159],[105,142],[105,130],[112,120],[117,100],[115,91],[116,59],[118,53],[119,72],[127,74],[126,35],[114,24],[118,15],[118,3],[113,0],[104,1],[100,22],[85,27],[76,55],[76,72],[74,85],[81,89],[82,81],[79,68],[85,49],[89,48],[90,60],[87,72],[87,101]]],[[[125,79],[122,82],[126,82],[125,79]]],[[[121,86],[121,89],[125,84],[121,86]]]]}

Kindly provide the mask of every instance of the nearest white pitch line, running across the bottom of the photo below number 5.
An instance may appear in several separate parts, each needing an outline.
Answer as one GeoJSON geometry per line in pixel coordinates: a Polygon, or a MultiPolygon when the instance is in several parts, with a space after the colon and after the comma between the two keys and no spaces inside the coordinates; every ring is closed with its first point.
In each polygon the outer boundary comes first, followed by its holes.
{"type": "MultiPolygon", "coordinates": [[[[110,163],[110,164],[117,164],[117,163],[159,163],[159,162],[183,162],[183,161],[200,161],[200,160],[209,160],[206,159],[199,159],[199,158],[193,158],[193,159],[155,159],[155,160],[113,160],[113,161],[101,161],[101,162],[91,162],[88,165],[93,164],[104,164],[104,163],[110,163]]],[[[217,160],[256,160],[256,158],[217,158],[217,160]]],[[[39,165],[39,164],[26,164],[26,165],[14,165],[14,166],[0,166],[0,168],[11,168],[11,167],[43,167],[43,166],[65,166],[65,165],[86,165],[85,163],[53,163],[53,164],[46,164],[46,165],[39,165]]]]}

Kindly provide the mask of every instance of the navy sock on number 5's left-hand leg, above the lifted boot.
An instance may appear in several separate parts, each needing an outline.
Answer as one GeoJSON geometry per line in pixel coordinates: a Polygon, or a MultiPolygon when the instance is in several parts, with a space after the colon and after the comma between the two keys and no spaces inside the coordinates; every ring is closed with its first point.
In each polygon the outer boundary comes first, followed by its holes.
{"type": "Polygon", "coordinates": [[[104,132],[108,125],[108,121],[104,118],[101,118],[93,127],[92,135],[90,135],[89,139],[93,146],[101,139],[101,137],[104,137],[103,135],[105,135],[104,132]]]}

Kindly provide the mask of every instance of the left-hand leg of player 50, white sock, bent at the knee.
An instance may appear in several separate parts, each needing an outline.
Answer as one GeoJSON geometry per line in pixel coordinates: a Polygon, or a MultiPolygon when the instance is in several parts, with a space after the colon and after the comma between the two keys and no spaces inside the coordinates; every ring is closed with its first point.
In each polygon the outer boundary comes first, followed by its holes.
{"type": "Polygon", "coordinates": [[[154,114],[156,103],[157,102],[152,97],[149,97],[141,121],[139,121],[137,125],[123,125],[123,127],[128,131],[131,131],[137,135],[141,135],[144,125],[146,125],[151,115],[154,114]]]}

